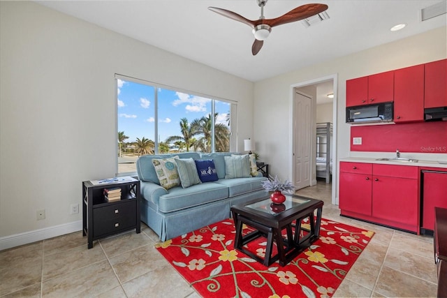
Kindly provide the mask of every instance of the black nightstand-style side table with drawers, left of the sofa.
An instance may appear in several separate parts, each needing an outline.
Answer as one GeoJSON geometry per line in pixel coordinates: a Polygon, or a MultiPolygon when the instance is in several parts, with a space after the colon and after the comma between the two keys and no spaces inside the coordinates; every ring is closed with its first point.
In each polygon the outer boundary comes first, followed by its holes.
{"type": "Polygon", "coordinates": [[[87,236],[88,248],[96,239],[132,229],[141,232],[139,180],[117,177],[110,183],[82,182],[82,235],[87,236]],[[107,202],[105,188],[121,188],[121,200],[107,202]]]}

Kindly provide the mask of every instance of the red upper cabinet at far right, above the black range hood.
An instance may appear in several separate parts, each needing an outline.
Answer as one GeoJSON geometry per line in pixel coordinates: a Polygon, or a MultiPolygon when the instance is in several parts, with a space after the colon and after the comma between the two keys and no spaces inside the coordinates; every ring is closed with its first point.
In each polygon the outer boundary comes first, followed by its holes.
{"type": "Polygon", "coordinates": [[[424,107],[447,107],[447,59],[425,64],[424,107]]]}

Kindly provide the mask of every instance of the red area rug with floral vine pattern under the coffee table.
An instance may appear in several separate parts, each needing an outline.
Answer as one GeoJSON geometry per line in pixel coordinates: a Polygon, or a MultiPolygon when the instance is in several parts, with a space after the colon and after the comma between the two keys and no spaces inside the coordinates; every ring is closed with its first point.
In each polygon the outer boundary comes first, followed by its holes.
{"type": "MultiPolygon", "coordinates": [[[[244,234],[252,230],[243,226],[244,234]]],[[[156,248],[203,297],[331,297],[373,234],[323,218],[320,238],[285,267],[278,262],[265,267],[235,250],[231,218],[156,248]]],[[[263,257],[265,240],[260,237],[245,247],[263,257]]]]}

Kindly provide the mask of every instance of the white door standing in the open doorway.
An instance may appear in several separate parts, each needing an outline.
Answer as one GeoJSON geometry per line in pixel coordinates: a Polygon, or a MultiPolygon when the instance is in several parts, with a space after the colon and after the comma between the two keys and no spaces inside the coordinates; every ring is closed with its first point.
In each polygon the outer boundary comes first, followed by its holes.
{"type": "Polygon", "coordinates": [[[293,161],[295,189],[310,186],[312,98],[295,91],[293,111],[293,161]]]}

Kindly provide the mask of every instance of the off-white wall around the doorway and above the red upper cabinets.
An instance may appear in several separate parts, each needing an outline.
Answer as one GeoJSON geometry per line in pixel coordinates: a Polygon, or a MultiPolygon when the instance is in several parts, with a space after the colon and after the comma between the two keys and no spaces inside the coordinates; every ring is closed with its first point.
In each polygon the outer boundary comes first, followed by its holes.
{"type": "MultiPolygon", "coordinates": [[[[255,83],[254,138],[258,142],[261,156],[268,156],[274,174],[288,172],[291,167],[291,147],[289,107],[290,88],[293,84],[316,80],[320,77],[337,74],[337,157],[350,156],[350,126],[344,123],[346,108],[346,80],[381,73],[386,70],[404,68],[430,61],[446,59],[446,27],[434,29],[409,38],[388,43],[369,50],[357,52],[332,61],[295,70],[291,73],[272,77],[255,83]]],[[[432,155],[433,156],[433,155],[432,155]]],[[[291,179],[291,177],[284,177],[291,179]]],[[[338,182],[332,181],[337,187],[338,182]]]]}

